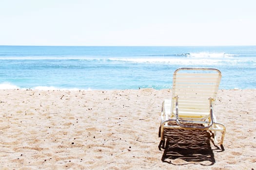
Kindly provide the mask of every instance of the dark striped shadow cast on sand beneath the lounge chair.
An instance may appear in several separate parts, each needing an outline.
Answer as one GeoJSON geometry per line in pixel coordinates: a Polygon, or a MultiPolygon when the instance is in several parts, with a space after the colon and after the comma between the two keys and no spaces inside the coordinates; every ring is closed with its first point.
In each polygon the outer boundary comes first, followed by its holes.
{"type": "MultiPolygon", "coordinates": [[[[224,148],[214,144],[211,138],[213,134],[208,131],[164,129],[164,136],[166,144],[161,160],[173,165],[213,165],[215,163],[213,151],[224,151],[224,148]]],[[[160,149],[160,144],[158,148],[160,149]]]]}

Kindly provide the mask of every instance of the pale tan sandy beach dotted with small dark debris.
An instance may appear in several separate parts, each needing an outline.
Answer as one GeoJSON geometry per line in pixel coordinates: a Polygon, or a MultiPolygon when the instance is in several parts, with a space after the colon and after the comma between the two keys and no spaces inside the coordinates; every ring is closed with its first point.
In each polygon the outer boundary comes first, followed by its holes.
{"type": "Polygon", "coordinates": [[[256,90],[218,91],[225,150],[210,142],[192,161],[158,150],[170,97],[169,89],[0,90],[0,169],[256,170],[256,90]]]}

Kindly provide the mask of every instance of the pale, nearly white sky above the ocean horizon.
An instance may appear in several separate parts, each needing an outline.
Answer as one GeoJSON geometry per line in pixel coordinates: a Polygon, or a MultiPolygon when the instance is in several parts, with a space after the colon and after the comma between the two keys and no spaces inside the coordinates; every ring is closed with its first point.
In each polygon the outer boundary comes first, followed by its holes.
{"type": "Polygon", "coordinates": [[[256,45],[256,0],[0,0],[0,45],[256,45]]]}

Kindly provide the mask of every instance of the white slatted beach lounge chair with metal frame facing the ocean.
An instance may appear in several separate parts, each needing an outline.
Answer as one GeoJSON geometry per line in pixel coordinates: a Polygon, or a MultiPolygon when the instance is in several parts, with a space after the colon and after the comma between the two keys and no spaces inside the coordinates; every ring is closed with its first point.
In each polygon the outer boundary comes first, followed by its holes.
{"type": "Polygon", "coordinates": [[[165,128],[221,132],[220,146],[226,128],[213,114],[221,72],[216,68],[178,68],[173,75],[172,98],[164,100],[161,111],[159,150],[165,148],[165,128]]]}

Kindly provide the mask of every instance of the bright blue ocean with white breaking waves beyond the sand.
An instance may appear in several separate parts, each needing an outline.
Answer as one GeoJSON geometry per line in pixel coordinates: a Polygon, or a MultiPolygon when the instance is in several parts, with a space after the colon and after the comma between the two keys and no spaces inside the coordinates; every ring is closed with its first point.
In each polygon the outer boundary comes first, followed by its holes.
{"type": "Polygon", "coordinates": [[[256,88],[256,46],[0,46],[0,89],[165,89],[180,67],[219,69],[220,89],[256,88]]]}

